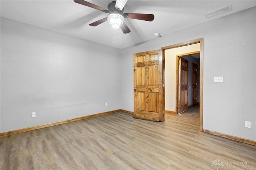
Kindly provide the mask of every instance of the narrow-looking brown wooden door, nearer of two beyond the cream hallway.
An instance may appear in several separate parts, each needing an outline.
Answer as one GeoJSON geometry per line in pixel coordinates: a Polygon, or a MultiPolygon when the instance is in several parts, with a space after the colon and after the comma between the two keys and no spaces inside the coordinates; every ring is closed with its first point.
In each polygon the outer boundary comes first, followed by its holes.
{"type": "Polygon", "coordinates": [[[179,57],[179,113],[188,110],[188,60],[179,57]]]}

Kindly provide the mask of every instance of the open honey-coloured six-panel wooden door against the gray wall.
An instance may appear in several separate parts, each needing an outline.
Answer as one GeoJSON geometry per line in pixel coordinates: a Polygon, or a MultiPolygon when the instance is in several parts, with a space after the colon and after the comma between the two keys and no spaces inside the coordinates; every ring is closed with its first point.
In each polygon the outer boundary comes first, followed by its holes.
{"type": "Polygon", "coordinates": [[[162,51],[134,53],[134,118],[164,121],[162,51]]]}

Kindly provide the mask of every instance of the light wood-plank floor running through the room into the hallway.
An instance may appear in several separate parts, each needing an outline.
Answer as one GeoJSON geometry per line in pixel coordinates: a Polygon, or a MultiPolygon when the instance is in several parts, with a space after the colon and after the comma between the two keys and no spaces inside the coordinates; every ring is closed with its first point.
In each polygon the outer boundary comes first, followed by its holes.
{"type": "Polygon", "coordinates": [[[118,112],[2,137],[1,170],[255,170],[256,146],[199,132],[198,109],[163,123],[118,112]]]}

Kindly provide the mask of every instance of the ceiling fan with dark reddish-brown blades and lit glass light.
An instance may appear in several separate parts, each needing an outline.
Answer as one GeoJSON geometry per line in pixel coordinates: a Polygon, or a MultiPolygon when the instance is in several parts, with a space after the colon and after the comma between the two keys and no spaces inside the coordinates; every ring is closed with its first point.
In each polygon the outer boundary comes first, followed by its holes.
{"type": "Polygon", "coordinates": [[[124,13],[124,6],[127,0],[116,0],[111,2],[110,4],[108,4],[108,10],[84,0],[74,0],[74,2],[108,13],[108,16],[106,18],[102,18],[101,20],[93,22],[89,24],[90,26],[95,27],[95,26],[98,26],[99,24],[102,24],[103,22],[108,21],[113,28],[117,29],[120,27],[124,34],[131,32],[128,26],[124,23],[124,18],[144,20],[144,21],[154,20],[153,14],[124,13]]]}

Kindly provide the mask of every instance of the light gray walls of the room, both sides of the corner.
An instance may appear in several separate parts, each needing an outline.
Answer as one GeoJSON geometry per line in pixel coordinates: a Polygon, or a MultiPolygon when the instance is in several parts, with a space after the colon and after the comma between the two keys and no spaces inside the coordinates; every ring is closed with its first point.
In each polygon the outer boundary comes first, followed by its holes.
{"type": "Polygon", "coordinates": [[[203,128],[256,140],[255,16],[250,8],[122,50],[1,18],[1,132],[133,111],[133,53],[204,38],[203,128]]]}

